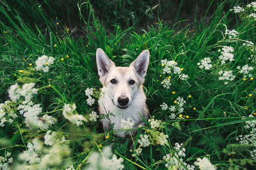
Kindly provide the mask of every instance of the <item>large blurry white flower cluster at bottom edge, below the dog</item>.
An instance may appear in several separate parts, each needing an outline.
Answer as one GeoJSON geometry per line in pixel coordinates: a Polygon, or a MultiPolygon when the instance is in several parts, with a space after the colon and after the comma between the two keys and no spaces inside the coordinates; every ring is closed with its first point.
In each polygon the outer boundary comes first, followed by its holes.
{"type": "Polygon", "coordinates": [[[119,170],[124,169],[122,158],[117,159],[116,155],[111,152],[111,148],[106,146],[102,150],[102,154],[98,152],[93,152],[88,158],[88,166],[85,167],[86,170],[119,170]]]}

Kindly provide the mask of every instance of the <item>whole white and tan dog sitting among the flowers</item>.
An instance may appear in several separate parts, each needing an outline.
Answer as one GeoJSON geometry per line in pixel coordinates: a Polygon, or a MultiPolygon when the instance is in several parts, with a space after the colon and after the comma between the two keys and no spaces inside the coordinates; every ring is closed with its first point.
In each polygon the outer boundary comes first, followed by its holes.
{"type": "MultiPolygon", "coordinates": [[[[103,85],[99,113],[104,115],[100,120],[104,130],[108,130],[111,124],[114,124],[113,130],[123,129],[121,120],[127,118],[134,122],[134,127],[145,124],[143,118],[148,120],[149,112],[142,85],[147,74],[149,55],[149,51],[144,50],[129,67],[116,67],[102,49],[97,49],[97,69],[103,85]]],[[[131,134],[136,132],[136,129],[131,130],[131,134]]],[[[125,138],[129,136],[129,131],[114,131],[114,135],[125,138]]]]}

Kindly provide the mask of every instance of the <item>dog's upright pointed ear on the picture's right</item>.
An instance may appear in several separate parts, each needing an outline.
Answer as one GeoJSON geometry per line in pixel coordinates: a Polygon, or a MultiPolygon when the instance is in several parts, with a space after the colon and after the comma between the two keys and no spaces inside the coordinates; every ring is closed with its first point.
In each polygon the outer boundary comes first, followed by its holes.
{"type": "Polygon", "coordinates": [[[140,53],[137,59],[130,64],[130,67],[134,67],[135,71],[144,78],[145,75],[147,74],[148,62],[149,62],[149,51],[144,50],[143,52],[140,53]]]}

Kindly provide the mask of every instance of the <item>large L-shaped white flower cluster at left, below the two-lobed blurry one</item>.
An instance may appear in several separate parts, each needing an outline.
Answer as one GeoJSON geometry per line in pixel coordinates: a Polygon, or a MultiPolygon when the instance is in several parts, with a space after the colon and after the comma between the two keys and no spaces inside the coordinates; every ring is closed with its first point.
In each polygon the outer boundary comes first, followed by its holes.
{"type": "Polygon", "coordinates": [[[23,101],[17,108],[20,115],[25,117],[26,125],[33,129],[34,127],[39,127],[40,129],[49,129],[50,125],[56,123],[56,118],[44,115],[43,117],[38,117],[42,112],[40,104],[33,105],[32,101],[23,101]]]}

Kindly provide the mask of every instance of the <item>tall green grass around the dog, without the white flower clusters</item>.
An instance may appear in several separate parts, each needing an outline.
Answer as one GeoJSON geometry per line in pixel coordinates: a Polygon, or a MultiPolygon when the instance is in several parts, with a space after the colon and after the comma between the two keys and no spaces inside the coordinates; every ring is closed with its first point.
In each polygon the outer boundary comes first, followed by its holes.
{"type": "MultiPolygon", "coordinates": [[[[255,63],[248,60],[248,56],[255,55],[255,50],[243,46],[245,40],[255,42],[255,21],[226,10],[239,4],[238,1],[211,1],[211,5],[216,3],[217,6],[214,13],[208,17],[207,11],[212,8],[209,5],[201,22],[195,20],[186,27],[179,27],[184,22],[182,20],[168,25],[159,19],[158,23],[139,31],[136,30],[136,22],[131,27],[121,27],[124,23],[113,24],[113,29],[107,31],[106,25],[95,15],[90,1],[78,1],[77,6],[70,6],[68,11],[78,11],[74,20],[79,20],[83,27],[68,27],[64,18],[56,18],[58,15],[51,8],[53,4],[48,1],[42,4],[42,8],[33,5],[32,1],[26,2],[17,1],[19,8],[12,8],[13,4],[7,1],[1,2],[1,18],[4,19],[0,22],[0,103],[9,99],[8,89],[16,82],[20,85],[36,83],[38,94],[32,100],[42,106],[40,115],[55,117],[58,123],[52,125],[50,130],[70,140],[68,154],[63,153],[61,162],[50,168],[65,169],[72,164],[76,169],[81,169],[87,166],[93,151],[98,152],[112,145],[113,153],[124,159],[125,169],[164,169],[166,162],[163,156],[173,152],[175,143],[184,144],[186,157],[183,160],[188,164],[193,164],[198,158],[209,157],[218,169],[255,168],[255,157],[253,159],[249,153],[255,150],[255,146],[241,145],[236,140],[239,135],[250,133],[249,129],[244,128],[246,121],[256,119],[255,115],[248,117],[256,112],[255,63]],[[32,22],[26,16],[32,18],[32,22]],[[225,37],[226,27],[236,29],[238,38],[225,37]],[[221,65],[218,50],[223,46],[234,48],[234,61],[221,65]],[[134,151],[129,152],[132,140],[138,143],[140,134],[150,129],[149,124],[142,127],[134,138],[121,139],[113,136],[113,131],[104,132],[99,119],[76,127],[63,117],[64,104],[76,103],[77,113],[88,120],[89,114],[97,111],[97,104],[88,106],[84,94],[86,88],[99,90],[102,87],[95,62],[97,48],[102,48],[117,66],[128,66],[142,50],[150,51],[150,64],[143,88],[150,115],[163,122],[163,129],[159,131],[168,134],[168,145],[150,145],[142,148],[140,156],[132,157],[134,151]],[[55,58],[48,73],[33,70],[36,59],[41,55],[55,58]],[[205,57],[212,60],[213,66],[209,71],[197,65],[205,57]],[[164,80],[163,59],[175,60],[180,68],[184,68],[182,73],[188,74],[189,78],[182,81],[177,75],[170,74],[172,86],[164,89],[161,85],[164,80]],[[243,80],[243,74],[237,71],[237,66],[245,64],[254,68],[252,80],[250,77],[243,80]],[[221,70],[232,70],[236,78],[224,85],[224,81],[218,79],[221,70]],[[175,112],[176,118],[171,119],[171,112],[161,110],[160,105],[166,103],[172,106],[179,96],[186,100],[184,113],[175,112]],[[189,118],[179,119],[180,114],[189,118]],[[108,134],[109,138],[106,139],[108,134]]],[[[72,20],[71,17],[66,20],[68,24],[72,23],[68,22],[72,20]]],[[[18,105],[15,103],[15,107],[18,105]]],[[[27,150],[28,143],[35,138],[44,141],[46,132],[29,129],[24,117],[19,115],[13,124],[6,124],[0,130],[1,154],[4,156],[7,151],[11,152],[15,160],[13,166],[16,167],[20,164],[19,153],[27,150]]],[[[182,166],[178,169],[182,169],[182,166]]]]}

